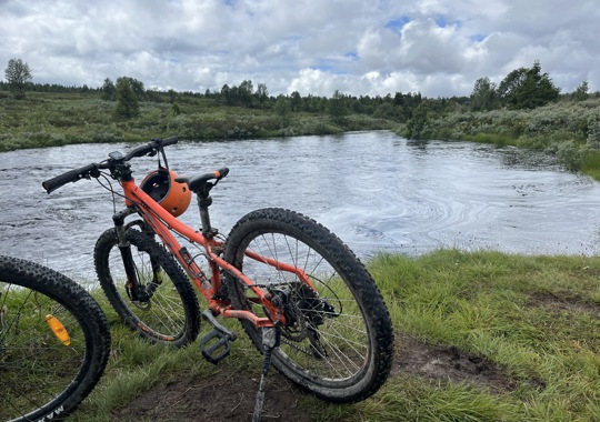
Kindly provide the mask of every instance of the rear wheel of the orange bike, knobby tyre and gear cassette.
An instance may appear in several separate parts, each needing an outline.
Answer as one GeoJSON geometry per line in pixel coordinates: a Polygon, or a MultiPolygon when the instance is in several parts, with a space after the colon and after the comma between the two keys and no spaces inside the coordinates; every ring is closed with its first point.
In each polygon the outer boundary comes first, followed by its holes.
{"type": "MultiPolygon", "coordinates": [[[[371,275],[339,238],[299,213],[263,209],[233,227],[224,258],[284,300],[287,326],[272,354],[280,372],[337,402],[360,401],[379,390],[391,370],[391,320],[371,275]],[[302,270],[316,290],[278,263],[302,270]]],[[[250,289],[231,275],[226,282],[233,307],[266,316],[250,289]]],[[[242,324],[262,351],[261,331],[242,324]]]]}

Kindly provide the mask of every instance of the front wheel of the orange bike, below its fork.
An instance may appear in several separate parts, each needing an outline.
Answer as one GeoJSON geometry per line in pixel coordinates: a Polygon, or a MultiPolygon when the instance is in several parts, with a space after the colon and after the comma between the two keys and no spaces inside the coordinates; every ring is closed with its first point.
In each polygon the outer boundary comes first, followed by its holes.
{"type": "Polygon", "coordinates": [[[107,298],[131,330],[156,343],[183,346],[198,336],[200,312],[192,285],[174,259],[153,239],[129,229],[126,239],[143,297],[128,287],[117,231],[107,230],[94,248],[94,265],[107,298]]]}

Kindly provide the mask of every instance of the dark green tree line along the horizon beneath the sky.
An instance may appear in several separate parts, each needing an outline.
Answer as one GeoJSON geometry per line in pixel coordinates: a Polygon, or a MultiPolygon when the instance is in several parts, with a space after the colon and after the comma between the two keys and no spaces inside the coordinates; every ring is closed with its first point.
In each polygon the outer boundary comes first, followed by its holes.
{"type": "MultiPolygon", "coordinates": [[[[251,80],[244,80],[239,86],[223,84],[220,90],[207,89],[204,92],[146,89],[142,81],[130,77],[120,77],[114,82],[107,78],[99,88],[40,84],[32,82],[31,69],[21,59],[11,59],[4,76],[7,81],[0,82],[0,90],[12,92],[17,99],[24,99],[26,91],[100,94],[102,100],[117,103],[114,113],[122,119],[139,115],[140,101],[169,102],[177,114],[181,112],[183,104],[204,99],[226,107],[269,109],[282,118],[293,112],[310,112],[328,113],[334,120],[341,121],[351,113],[368,114],[407,123],[407,135],[411,138],[419,138],[428,119],[440,113],[501,108],[534,109],[560,98],[583,100],[591,96],[587,81],[581,82],[573,93],[561,94],[549,74],[542,73],[539,61],[534,61],[531,68],[511,71],[498,84],[487,77],[478,79],[469,97],[437,99],[424,98],[420,92],[356,97],[339,91],[333,92],[331,98],[312,94],[303,97],[298,91],[273,97],[269,94],[264,83],[258,83],[254,88],[251,80]]],[[[596,92],[593,96],[600,97],[600,93],[596,92]]]]}

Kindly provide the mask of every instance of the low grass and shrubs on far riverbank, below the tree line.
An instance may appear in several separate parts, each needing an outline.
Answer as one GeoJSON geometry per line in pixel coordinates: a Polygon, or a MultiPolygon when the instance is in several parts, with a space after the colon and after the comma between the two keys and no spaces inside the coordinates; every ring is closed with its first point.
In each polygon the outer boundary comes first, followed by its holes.
{"type": "Polygon", "coordinates": [[[378,112],[347,112],[334,118],[327,105],[316,111],[300,108],[278,112],[183,97],[177,103],[141,101],[138,117],[118,119],[117,104],[94,92],[30,92],[26,100],[16,100],[0,91],[0,152],[171,135],[227,140],[386,129],[413,139],[532,148],[556,154],[567,168],[600,180],[600,97],[583,101],[564,98],[533,110],[470,111],[450,100],[421,98],[414,102],[421,105],[403,112],[411,115],[409,119],[398,115],[401,105],[394,105],[392,99],[378,99],[378,112]],[[419,119],[418,132],[411,132],[419,119]]]}

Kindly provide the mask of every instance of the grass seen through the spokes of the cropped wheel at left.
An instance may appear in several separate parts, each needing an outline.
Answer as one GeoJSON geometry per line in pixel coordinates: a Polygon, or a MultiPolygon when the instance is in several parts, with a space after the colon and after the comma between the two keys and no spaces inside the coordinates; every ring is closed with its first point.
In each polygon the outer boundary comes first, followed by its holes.
{"type": "Polygon", "coordinates": [[[84,353],[84,333],[71,312],[42,293],[0,281],[1,420],[59,394],[76,376],[84,353]],[[49,316],[67,336],[51,331],[49,316]]]}

